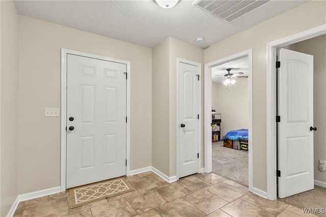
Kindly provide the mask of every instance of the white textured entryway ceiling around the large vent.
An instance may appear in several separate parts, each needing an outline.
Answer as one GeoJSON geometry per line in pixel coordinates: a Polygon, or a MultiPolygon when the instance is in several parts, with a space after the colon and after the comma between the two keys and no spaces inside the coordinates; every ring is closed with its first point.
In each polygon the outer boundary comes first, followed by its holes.
{"type": "Polygon", "coordinates": [[[227,22],[181,0],[171,9],[154,1],[14,1],[19,14],[153,48],[168,37],[207,48],[307,1],[276,1],[227,22]],[[196,42],[197,38],[203,42],[196,42]]]}

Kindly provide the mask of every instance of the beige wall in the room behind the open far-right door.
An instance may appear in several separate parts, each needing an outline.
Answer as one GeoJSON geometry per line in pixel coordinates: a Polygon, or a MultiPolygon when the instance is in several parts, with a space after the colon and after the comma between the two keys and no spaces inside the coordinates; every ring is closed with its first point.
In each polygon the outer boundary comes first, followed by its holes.
{"type": "Polygon", "coordinates": [[[314,56],[314,179],[326,182],[326,172],[318,169],[318,160],[326,160],[326,35],[296,43],[292,50],[314,56]]]}

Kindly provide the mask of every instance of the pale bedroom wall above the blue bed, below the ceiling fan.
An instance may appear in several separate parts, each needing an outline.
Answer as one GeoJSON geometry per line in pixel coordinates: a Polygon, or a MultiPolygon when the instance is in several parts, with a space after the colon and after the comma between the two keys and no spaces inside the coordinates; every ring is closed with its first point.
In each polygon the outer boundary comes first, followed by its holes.
{"type": "Polygon", "coordinates": [[[212,82],[212,106],[222,114],[221,137],[230,130],[248,129],[248,79],[237,79],[230,90],[212,82]]]}

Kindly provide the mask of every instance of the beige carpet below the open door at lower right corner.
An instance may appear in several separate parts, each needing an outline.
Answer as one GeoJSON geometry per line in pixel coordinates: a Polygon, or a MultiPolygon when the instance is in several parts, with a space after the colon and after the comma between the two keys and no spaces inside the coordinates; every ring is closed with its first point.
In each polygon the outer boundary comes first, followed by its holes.
{"type": "MultiPolygon", "coordinates": [[[[298,208],[311,208],[321,209],[323,208],[326,212],[326,189],[315,185],[315,189],[296,194],[286,198],[278,198],[279,201],[287,204],[296,206],[298,208]]],[[[325,217],[326,213],[315,213],[316,215],[325,217]]]]}

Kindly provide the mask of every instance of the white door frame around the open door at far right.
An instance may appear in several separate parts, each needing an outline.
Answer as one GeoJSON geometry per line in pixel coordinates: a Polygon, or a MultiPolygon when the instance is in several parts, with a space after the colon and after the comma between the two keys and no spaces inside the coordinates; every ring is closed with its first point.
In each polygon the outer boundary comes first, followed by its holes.
{"type": "Polygon", "coordinates": [[[276,49],[326,34],[326,25],[320,25],[304,32],[267,44],[266,76],[266,161],[267,199],[277,199],[276,186],[276,49]]]}

